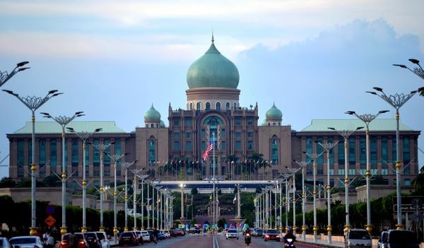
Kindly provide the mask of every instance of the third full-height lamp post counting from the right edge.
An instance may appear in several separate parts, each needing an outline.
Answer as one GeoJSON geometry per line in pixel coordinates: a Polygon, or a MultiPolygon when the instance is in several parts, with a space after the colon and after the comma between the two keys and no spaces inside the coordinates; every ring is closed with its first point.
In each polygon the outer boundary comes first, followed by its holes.
{"type": "Polygon", "coordinates": [[[363,129],[363,126],[358,126],[355,129],[346,129],[346,130],[337,130],[334,127],[328,127],[328,129],[336,131],[340,136],[344,138],[344,146],[345,146],[345,208],[346,208],[346,226],[344,228],[344,232],[347,234],[348,230],[351,228],[351,224],[349,223],[349,167],[348,167],[348,141],[349,136],[353,134],[354,131],[359,129],[363,129]]]}

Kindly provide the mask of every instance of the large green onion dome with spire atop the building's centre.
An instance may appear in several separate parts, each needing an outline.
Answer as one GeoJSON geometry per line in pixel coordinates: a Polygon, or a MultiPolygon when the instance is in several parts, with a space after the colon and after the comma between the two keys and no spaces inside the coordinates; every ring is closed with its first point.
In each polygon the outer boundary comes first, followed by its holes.
{"type": "Polygon", "coordinates": [[[220,54],[213,44],[213,38],[208,51],[194,61],[187,71],[189,88],[237,88],[239,79],[237,67],[220,54]]]}

